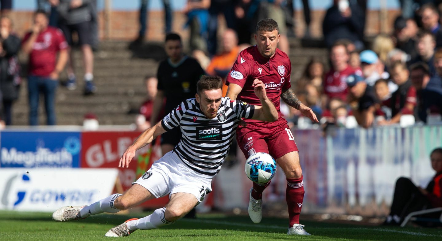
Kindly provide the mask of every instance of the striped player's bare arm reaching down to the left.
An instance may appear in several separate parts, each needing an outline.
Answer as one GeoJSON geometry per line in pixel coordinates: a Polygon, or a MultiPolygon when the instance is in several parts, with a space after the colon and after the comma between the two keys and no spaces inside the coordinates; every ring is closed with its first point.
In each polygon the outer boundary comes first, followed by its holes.
{"type": "Polygon", "coordinates": [[[123,156],[120,158],[120,163],[118,164],[118,167],[129,167],[129,163],[135,156],[135,152],[145,145],[151,143],[157,136],[161,135],[164,132],[166,132],[166,130],[164,130],[163,126],[161,126],[161,122],[158,122],[155,126],[152,126],[141,133],[133,142],[133,144],[130,145],[123,153],[123,156]]]}

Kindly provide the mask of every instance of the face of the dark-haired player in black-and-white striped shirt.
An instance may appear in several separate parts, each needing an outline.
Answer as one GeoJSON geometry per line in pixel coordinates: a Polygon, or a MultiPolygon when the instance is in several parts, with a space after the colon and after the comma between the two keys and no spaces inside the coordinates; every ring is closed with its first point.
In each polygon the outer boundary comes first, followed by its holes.
{"type": "Polygon", "coordinates": [[[218,108],[221,105],[222,89],[203,90],[195,94],[199,108],[206,115],[207,119],[213,119],[217,116],[218,108]]]}

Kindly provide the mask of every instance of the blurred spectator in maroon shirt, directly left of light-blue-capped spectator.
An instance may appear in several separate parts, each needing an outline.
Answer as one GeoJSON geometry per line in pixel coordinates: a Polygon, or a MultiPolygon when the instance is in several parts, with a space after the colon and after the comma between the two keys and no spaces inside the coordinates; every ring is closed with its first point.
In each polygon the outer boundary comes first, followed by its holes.
{"type": "Polygon", "coordinates": [[[347,76],[355,73],[362,75],[360,69],[355,70],[348,64],[349,59],[345,43],[338,41],[331,47],[331,69],[325,74],[323,82],[324,94],[328,100],[337,97],[347,102],[347,76]]]}

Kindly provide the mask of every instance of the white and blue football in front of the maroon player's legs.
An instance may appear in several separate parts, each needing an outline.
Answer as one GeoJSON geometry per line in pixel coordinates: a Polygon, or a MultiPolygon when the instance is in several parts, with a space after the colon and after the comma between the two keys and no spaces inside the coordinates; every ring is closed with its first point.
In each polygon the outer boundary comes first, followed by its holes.
{"type": "Polygon", "coordinates": [[[276,161],[265,152],[256,152],[246,161],[247,177],[259,184],[269,182],[276,173],[276,161]]]}

